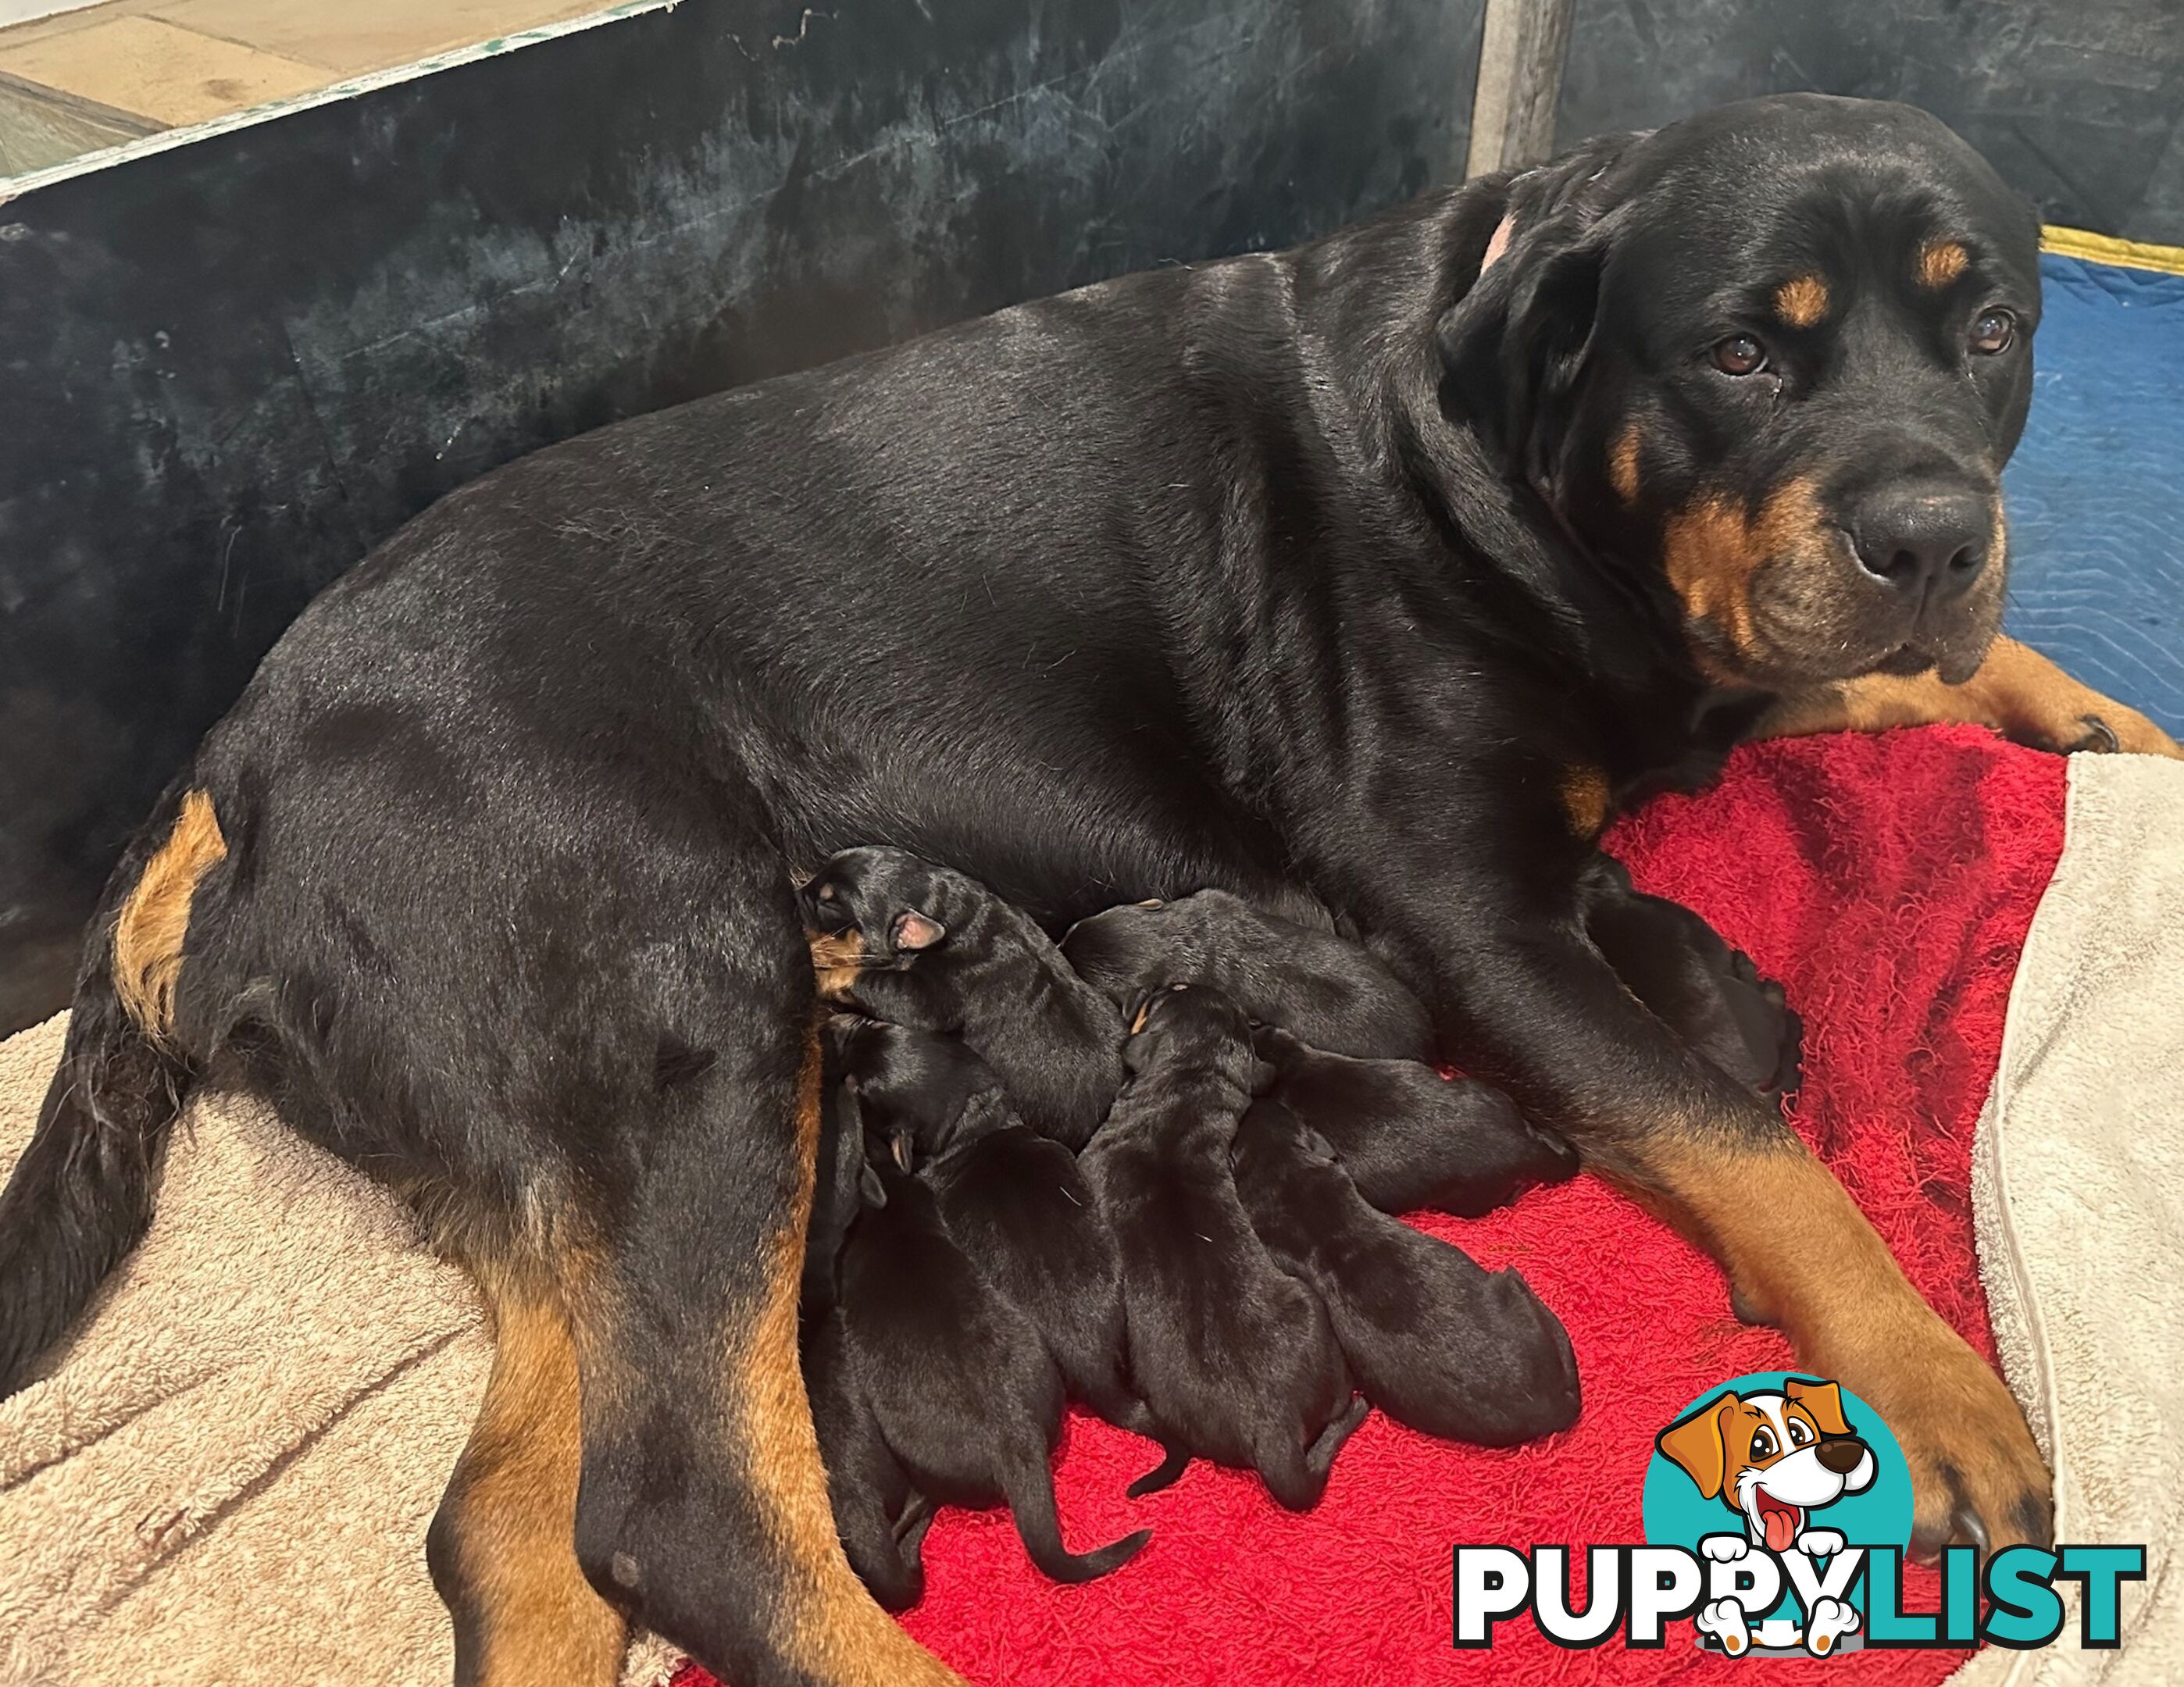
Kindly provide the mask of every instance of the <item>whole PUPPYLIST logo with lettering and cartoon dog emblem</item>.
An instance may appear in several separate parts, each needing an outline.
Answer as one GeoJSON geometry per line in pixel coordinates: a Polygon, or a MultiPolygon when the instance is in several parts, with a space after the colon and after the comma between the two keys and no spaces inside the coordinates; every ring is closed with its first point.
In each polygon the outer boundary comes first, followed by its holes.
{"type": "Polygon", "coordinates": [[[1645,1545],[1459,1545],[1455,1643],[1494,1646],[1529,1622],[1555,1646],[1666,1643],[1690,1622],[1701,1650],[1826,1659],[1861,1648],[2053,1646],[2055,1582],[2075,1580],[2079,1646],[2121,1635],[2123,1582],[2145,1547],[1950,1547],[1937,1611],[1902,1608],[1911,1469],[1856,1395],[1765,1371],[1706,1390],[1653,1440],[1645,1545]],[[1583,1554],[1583,1600],[1572,1569],[1583,1554]]]}

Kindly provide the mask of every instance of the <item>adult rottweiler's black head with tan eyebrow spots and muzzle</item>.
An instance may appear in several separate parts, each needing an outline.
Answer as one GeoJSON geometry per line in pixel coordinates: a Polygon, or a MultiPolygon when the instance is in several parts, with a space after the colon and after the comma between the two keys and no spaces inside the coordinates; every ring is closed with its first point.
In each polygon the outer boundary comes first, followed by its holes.
{"type": "Polygon", "coordinates": [[[1511,183],[1444,408],[1708,679],[1966,679],[2007,572],[2038,220],[1942,122],[1811,94],[1511,183]]]}

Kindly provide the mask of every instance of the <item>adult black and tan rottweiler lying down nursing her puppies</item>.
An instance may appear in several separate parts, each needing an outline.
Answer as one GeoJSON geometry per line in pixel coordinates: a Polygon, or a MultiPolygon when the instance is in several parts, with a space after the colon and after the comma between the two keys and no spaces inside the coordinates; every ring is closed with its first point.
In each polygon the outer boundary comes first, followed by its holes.
{"type": "Polygon", "coordinates": [[[179,1096],[251,1085],[494,1307],[435,1530],[465,1680],[605,1683],[625,1613],[740,1687],[948,1680],[850,1574],[797,1375],[793,871],[885,842],[1048,932],[1219,886],[1369,943],[1887,1419],[1922,1541],[2044,1539],[1994,1371],[1577,906],[1616,805],[1754,733],[2180,755],[1996,637],[2038,314],[1961,140],[1780,96],[452,493],[118,866],[0,1205],[0,1388],[142,1233],[179,1096]]]}

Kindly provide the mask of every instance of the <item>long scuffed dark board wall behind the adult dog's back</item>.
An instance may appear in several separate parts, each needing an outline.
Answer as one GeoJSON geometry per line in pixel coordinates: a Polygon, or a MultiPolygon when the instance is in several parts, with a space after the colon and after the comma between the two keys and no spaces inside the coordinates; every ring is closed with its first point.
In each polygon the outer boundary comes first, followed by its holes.
{"type": "Polygon", "coordinates": [[[686,0],[0,207],[0,1032],[290,615],[614,417],[1459,170],[1481,0],[686,0]]]}

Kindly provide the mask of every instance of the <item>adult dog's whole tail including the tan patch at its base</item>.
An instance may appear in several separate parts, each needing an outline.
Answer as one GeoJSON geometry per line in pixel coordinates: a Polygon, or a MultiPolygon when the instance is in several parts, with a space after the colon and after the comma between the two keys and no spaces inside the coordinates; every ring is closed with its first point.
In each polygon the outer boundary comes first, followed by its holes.
{"type": "Polygon", "coordinates": [[[190,1078],[170,1043],[181,941],[199,880],[225,853],[210,797],[177,783],[92,925],[61,1065],[0,1192],[0,1399],[151,1224],[159,1148],[190,1078]]]}

